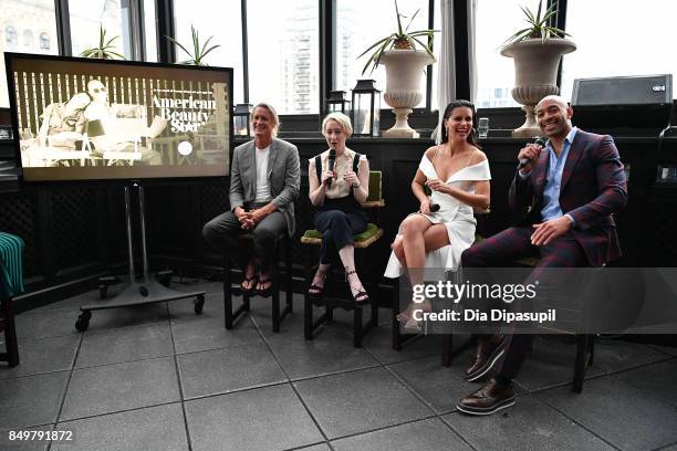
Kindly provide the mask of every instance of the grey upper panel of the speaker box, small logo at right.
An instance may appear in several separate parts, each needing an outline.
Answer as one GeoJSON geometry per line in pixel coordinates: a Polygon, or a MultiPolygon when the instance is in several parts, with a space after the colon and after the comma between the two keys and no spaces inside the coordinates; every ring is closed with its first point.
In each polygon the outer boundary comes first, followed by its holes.
{"type": "Polygon", "coordinates": [[[575,105],[656,105],[673,103],[673,75],[574,80],[575,105]]]}

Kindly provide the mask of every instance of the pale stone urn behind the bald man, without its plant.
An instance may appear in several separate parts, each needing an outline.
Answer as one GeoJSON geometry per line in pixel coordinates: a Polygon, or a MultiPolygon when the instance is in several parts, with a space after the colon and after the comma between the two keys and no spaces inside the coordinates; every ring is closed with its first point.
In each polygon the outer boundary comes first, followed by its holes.
{"type": "Polygon", "coordinates": [[[513,42],[501,48],[501,55],[514,60],[512,98],[524,105],[524,124],[512,132],[514,137],[534,137],[541,134],[534,116],[535,105],[546,95],[559,94],[558,67],[562,55],[576,50],[567,39],[540,38],[513,42]]]}

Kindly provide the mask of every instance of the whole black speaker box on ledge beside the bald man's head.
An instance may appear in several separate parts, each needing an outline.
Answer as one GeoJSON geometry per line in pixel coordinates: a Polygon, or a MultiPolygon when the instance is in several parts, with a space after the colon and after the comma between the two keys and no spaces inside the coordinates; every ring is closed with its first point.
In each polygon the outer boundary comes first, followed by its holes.
{"type": "Polygon", "coordinates": [[[655,136],[670,122],[673,75],[574,80],[573,123],[590,132],[655,136]]]}

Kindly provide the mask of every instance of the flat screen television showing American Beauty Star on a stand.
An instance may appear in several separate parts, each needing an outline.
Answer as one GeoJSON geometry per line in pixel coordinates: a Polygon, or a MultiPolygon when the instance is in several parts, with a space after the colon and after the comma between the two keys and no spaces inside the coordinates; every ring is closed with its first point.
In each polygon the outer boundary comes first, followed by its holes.
{"type": "Polygon", "coordinates": [[[223,177],[232,69],[6,53],[24,181],[223,177]]]}

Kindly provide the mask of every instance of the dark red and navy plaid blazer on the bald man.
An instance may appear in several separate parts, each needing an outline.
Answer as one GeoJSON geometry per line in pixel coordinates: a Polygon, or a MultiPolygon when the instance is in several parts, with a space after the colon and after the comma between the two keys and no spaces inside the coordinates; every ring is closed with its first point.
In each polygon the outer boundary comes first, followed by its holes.
{"type": "MultiPolygon", "coordinates": [[[[531,177],[515,174],[509,191],[509,203],[522,219],[519,226],[541,222],[543,190],[550,155],[541,151],[531,177]]],[[[616,224],[612,213],[627,202],[623,164],[614,139],[579,129],[562,171],[560,206],[575,221],[572,229],[590,264],[602,266],[621,256],[616,224]]]]}

